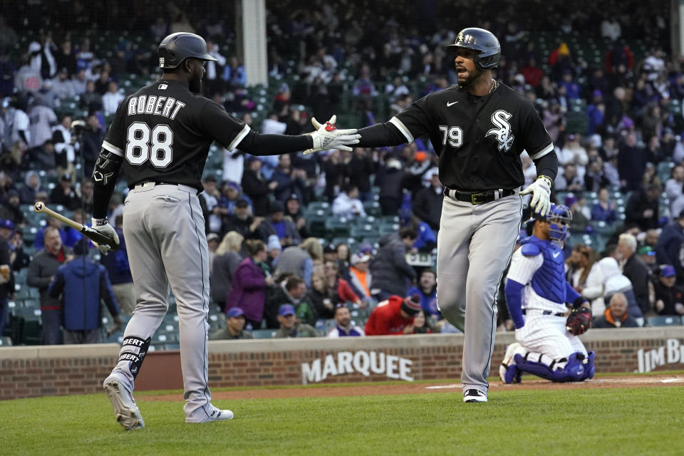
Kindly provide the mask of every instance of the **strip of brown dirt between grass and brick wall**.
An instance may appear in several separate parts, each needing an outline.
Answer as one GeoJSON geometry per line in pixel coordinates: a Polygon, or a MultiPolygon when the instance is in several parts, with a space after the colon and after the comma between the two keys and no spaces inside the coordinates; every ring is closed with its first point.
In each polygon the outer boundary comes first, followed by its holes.
{"type": "MultiPolygon", "coordinates": [[[[523,378],[522,383],[506,385],[500,381],[489,383],[489,390],[576,390],[589,388],[657,388],[684,385],[684,375],[649,375],[601,377],[579,383],[551,383],[536,378],[523,378]]],[[[416,393],[460,393],[461,383],[387,383],[361,386],[316,386],[314,388],[275,388],[235,391],[215,391],[218,400],[310,398],[358,395],[393,395],[416,393]]],[[[138,400],[182,400],[182,394],[142,395],[138,400]]]]}

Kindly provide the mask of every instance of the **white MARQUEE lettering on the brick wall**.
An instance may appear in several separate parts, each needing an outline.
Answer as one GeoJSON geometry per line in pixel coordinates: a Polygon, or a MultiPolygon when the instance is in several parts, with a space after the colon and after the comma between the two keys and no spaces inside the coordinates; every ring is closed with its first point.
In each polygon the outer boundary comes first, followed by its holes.
{"type": "Polygon", "coordinates": [[[411,365],[413,361],[376,351],[341,351],[311,363],[301,363],[301,383],[322,382],[330,375],[361,373],[370,377],[371,373],[385,374],[393,380],[413,381],[411,365]]]}

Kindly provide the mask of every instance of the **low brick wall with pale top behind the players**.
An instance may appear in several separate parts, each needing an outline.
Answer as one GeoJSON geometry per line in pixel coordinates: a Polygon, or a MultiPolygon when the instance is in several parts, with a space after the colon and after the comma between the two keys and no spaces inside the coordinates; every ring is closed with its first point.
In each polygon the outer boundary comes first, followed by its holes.
{"type": "MultiPolygon", "coordinates": [[[[634,372],[684,368],[684,327],[592,330],[582,336],[589,350],[596,351],[596,371],[634,372]],[[616,338],[616,336],[621,338],[616,338]],[[668,341],[670,351],[668,352],[668,341]],[[677,350],[675,350],[675,345],[677,350]],[[671,353],[670,353],[671,352],[671,353]],[[680,353],[677,363],[672,353],[680,353]],[[662,364],[662,365],[661,365],[662,364]]],[[[502,361],[505,346],[513,341],[511,333],[497,335],[492,357],[492,375],[502,361]]],[[[393,360],[410,360],[410,377],[453,379],[460,377],[462,336],[385,336],[374,338],[292,339],[254,341],[212,341],[209,344],[209,385],[213,388],[259,385],[301,385],[302,364],[320,364],[332,355],[337,364],[340,353],[348,358],[356,353],[374,353],[385,365],[393,360]],[[311,347],[316,346],[315,350],[311,347]]],[[[99,393],[118,356],[118,346],[53,346],[0,348],[0,399],[41,395],[99,393]]],[[[360,356],[359,360],[364,361],[360,356]]],[[[361,365],[359,361],[359,365],[361,365]]],[[[331,361],[332,362],[332,361],[331,361]]],[[[379,361],[378,361],[379,364],[379,361]]],[[[339,365],[341,366],[341,365],[339,365]]],[[[350,362],[348,366],[352,366],[350,362]]],[[[354,365],[356,366],[356,365],[354,365]]],[[[332,366],[328,366],[332,368],[332,366]]],[[[337,368],[338,366],[335,366],[337,368]]],[[[398,369],[398,368],[397,368],[398,369]]],[[[321,383],[346,383],[392,380],[386,372],[368,375],[352,369],[328,371],[321,383]]],[[[363,371],[363,369],[362,369],[363,371]]],[[[138,390],[182,388],[180,353],[149,353],[136,379],[138,390]]]]}

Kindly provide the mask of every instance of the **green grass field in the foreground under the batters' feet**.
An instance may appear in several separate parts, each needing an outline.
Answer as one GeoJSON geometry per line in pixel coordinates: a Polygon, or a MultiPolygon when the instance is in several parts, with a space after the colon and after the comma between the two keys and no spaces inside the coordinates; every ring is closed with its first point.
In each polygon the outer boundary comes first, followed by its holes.
{"type": "Polygon", "coordinates": [[[683,455],[684,388],[491,391],[216,401],[234,420],[183,422],[138,395],[126,432],[104,394],[0,402],[2,455],[683,455]]]}

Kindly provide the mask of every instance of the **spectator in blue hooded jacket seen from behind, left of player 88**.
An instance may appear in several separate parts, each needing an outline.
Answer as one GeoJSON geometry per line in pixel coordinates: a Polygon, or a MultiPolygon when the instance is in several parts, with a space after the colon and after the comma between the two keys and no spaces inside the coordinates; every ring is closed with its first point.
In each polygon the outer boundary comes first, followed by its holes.
{"type": "Polygon", "coordinates": [[[82,239],[73,247],[76,255],[59,266],[48,286],[48,294],[62,296],[64,343],[99,343],[100,301],[104,300],[115,323],[123,326],[119,306],[105,266],[88,258],[88,242],[82,239]]]}

